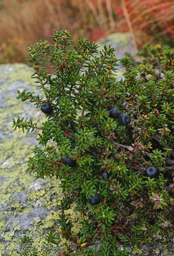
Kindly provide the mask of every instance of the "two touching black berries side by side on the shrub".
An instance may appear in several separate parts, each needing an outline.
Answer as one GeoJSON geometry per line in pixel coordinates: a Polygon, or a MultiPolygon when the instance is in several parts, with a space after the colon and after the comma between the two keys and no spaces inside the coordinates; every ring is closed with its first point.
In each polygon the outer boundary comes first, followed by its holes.
{"type": "Polygon", "coordinates": [[[120,114],[120,110],[116,106],[109,111],[109,116],[118,119],[121,125],[127,125],[131,122],[130,116],[128,114],[120,114]]]}

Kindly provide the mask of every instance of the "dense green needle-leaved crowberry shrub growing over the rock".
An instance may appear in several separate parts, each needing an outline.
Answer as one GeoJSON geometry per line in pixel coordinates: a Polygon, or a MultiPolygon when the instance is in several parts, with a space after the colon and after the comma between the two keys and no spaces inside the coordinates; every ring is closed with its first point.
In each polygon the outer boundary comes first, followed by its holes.
{"type": "MultiPolygon", "coordinates": [[[[53,112],[42,127],[24,118],[13,119],[13,127],[40,130],[40,146],[33,149],[29,170],[36,178],[61,180],[59,223],[63,236],[76,241],[76,254],[85,250],[86,255],[96,255],[87,246],[100,238],[98,255],[128,255],[116,248],[117,241],[143,244],[154,232],[173,230],[174,51],[147,46],[140,53],[140,65],[121,58],[125,78],[117,81],[118,59],[112,47],[96,55],[97,45],[87,38],[71,47],[69,31],[55,31],[52,38],[54,45],[40,40],[28,48],[32,78],[43,97],[24,90],[18,91],[17,99],[30,100],[37,111],[49,102],[53,112]],[[44,61],[55,70],[54,76],[42,67],[44,61]],[[129,114],[130,124],[109,117],[115,106],[129,114]],[[54,144],[48,146],[48,141],[54,144]],[[77,164],[65,165],[65,156],[77,164]],[[151,165],[159,169],[157,178],[145,175],[151,165]],[[103,172],[110,177],[103,179],[103,172]],[[88,197],[96,194],[100,203],[89,204],[88,197]],[[72,236],[64,212],[72,202],[83,216],[78,238],[72,236]]],[[[46,239],[58,244],[57,234],[48,233],[46,239]]],[[[72,248],[66,253],[74,255],[72,248]]]]}

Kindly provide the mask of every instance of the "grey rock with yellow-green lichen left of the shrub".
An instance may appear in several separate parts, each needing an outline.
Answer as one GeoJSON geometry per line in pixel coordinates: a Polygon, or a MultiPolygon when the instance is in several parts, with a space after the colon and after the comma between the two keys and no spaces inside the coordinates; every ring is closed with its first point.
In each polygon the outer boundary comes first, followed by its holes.
{"type": "MultiPolygon", "coordinates": [[[[38,145],[37,133],[23,134],[12,129],[12,119],[18,116],[32,118],[38,124],[45,118],[31,102],[15,99],[17,90],[36,91],[31,74],[32,70],[23,64],[0,66],[0,255],[8,243],[12,247],[6,252],[15,255],[12,248],[24,234],[33,237],[35,246],[39,246],[47,231],[60,232],[59,180],[34,180],[27,171],[27,161],[31,149],[38,145]]],[[[74,228],[78,229],[75,224],[74,228]]]]}

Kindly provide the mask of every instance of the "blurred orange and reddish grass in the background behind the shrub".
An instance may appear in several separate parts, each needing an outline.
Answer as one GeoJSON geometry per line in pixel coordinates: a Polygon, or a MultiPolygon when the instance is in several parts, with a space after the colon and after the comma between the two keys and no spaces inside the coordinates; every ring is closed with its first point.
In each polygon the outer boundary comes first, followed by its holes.
{"type": "Polygon", "coordinates": [[[0,0],[0,63],[26,62],[28,46],[54,29],[70,30],[75,41],[130,32],[136,49],[173,46],[173,21],[173,0],[0,0]]]}

